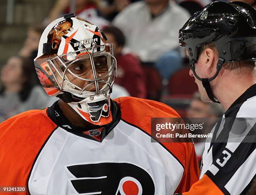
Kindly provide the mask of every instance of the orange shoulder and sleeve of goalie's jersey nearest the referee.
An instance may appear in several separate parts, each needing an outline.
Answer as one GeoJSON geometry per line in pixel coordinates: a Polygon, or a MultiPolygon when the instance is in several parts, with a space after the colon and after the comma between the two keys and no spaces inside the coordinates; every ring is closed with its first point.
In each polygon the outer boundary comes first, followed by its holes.
{"type": "MultiPolygon", "coordinates": [[[[152,117],[180,117],[172,107],[153,100],[136,97],[120,97],[114,101],[118,103],[121,109],[122,120],[135,125],[149,135],[151,135],[152,117]]],[[[169,150],[184,168],[182,180],[175,193],[182,193],[189,190],[191,185],[199,179],[200,174],[193,143],[160,144],[169,150]]]]}

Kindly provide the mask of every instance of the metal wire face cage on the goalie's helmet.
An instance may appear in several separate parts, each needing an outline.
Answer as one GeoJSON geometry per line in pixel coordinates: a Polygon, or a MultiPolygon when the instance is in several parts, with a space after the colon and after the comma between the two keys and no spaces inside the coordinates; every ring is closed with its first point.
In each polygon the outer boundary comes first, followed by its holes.
{"type": "Polygon", "coordinates": [[[113,44],[96,45],[94,42],[92,45],[92,47],[88,48],[81,45],[79,50],[59,55],[46,61],[61,91],[67,91],[77,95],[86,95],[89,97],[112,90],[113,82],[117,78],[117,62],[113,55],[113,44]],[[104,75],[99,77],[94,61],[96,57],[100,56],[105,56],[108,70],[104,75]],[[77,75],[70,70],[70,67],[72,67],[74,63],[85,59],[90,59],[90,68],[93,73],[93,78],[84,78],[82,77],[83,75],[77,75]],[[82,87],[75,85],[69,80],[67,73],[72,75],[73,78],[88,82],[88,84],[82,87]],[[102,87],[100,87],[99,84],[102,85],[102,87]],[[87,88],[91,85],[95,85],[95,91],[87,91],[87,88]]]}

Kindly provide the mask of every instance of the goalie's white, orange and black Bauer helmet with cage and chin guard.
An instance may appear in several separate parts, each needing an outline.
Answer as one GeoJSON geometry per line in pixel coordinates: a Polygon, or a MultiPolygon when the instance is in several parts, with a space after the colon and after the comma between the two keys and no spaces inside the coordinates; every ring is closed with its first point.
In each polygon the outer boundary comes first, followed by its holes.
{"type": "Polygon", "coordinates": [[[113,44],[97,26],[74,14],[54,20],[41,36],[34,63],[48,95],[60,97],[92,124],[112,121],[116,59],[113,44]]]}

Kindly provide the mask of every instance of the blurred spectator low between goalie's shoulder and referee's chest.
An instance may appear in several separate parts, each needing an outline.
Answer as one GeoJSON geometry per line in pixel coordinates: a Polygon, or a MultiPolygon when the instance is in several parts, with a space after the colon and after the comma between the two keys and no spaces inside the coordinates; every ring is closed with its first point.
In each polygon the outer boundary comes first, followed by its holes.
{"type": "MultiPolygon", "coordinates": [[[[207,118],[210,124],[208,127],[213,128],[213,125],[216,124],[218,117],[222,117],[225,110],[221,104],[216,104],[214,102],[203,102],[200,97],[199,92],[195,92],[192,98],[192,101],[187,109],[188,118],[207,118]]],[[[197,154],[197,160],[200,163],[202,159],[202,154],[205,149],[204,142],[197,142],[194,144],[197,154]]]]}

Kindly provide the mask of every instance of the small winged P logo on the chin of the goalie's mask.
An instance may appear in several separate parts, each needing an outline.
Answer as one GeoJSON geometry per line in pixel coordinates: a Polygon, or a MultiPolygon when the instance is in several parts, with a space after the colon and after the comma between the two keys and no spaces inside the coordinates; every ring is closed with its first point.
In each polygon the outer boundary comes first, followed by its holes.
{"type": "Polygon", "coordinates": [[[109,116],[108,99],[87,103],[87,106],[92,122],[98,122],[101,116],[109,116]]]}

